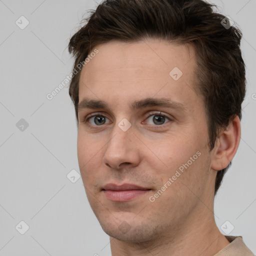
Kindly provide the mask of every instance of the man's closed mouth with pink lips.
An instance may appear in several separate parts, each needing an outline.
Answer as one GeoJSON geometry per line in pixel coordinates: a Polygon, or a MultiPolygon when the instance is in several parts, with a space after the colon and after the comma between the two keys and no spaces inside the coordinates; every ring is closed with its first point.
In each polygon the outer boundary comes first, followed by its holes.
{"type": "Polygon", "coordinates": [[[129,201],[138,196],[148,193],[148,191],[150,190],[150,188],[127,183],[122,185],[108,183],[102,188],[102,191],[107,199],[119,202],[129,201]]]}

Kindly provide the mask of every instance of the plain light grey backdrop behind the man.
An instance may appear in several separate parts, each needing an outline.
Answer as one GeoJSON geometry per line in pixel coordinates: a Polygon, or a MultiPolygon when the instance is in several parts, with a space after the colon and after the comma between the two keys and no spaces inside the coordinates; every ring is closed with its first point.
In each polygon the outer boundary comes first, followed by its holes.
{"type": "MultiPolygon", "coordinates": [[[[215,219],[219,228],[228,220],[234,226],[229,235],[242,235],[256,253],[256,0],[212,2],[243,32],[248,84],[241,141],[216,196],[215,219]]],[[[70,73],[69,38],[95,5],[93,0],[0,0],[1,256],[110,255],[109,237],[90,209],[81,178],[72,183],[66,177],[72,169],[79,173],[68,86],[46,98],[70,73]],[[29,21],[24,29],[15,23],[21,15],[29,21]],[[21,220],[29,226],[24,234],[21,220]]]]}

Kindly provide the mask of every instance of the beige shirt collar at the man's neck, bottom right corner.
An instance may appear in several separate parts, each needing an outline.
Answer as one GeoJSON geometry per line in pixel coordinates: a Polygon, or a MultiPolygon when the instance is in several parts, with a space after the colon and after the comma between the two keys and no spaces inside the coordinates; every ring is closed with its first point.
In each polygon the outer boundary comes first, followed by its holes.
{"type": "Polygon", "coordinates": [[[244,244],[241,236],[225,235],[225,237],[230,243],[214,256],[254,256],[244,244]]]}

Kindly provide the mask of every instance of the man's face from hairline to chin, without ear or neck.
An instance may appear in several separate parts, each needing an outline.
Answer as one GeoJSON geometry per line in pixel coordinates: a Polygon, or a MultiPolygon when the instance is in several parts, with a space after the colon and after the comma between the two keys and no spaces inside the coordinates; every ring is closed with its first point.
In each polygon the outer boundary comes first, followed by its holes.
{"type": "Polygon", "coordinates": [[[79,80],[77,153],[100,225],[142,242],[198,221],[215,176],[192,46],[150,39],[96,48],[79,80]]]}

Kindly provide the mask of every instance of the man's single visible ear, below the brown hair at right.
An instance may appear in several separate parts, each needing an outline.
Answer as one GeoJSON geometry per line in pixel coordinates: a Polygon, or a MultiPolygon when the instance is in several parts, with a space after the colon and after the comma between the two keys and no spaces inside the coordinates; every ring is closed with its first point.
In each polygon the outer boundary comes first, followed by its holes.
{"type": "Polygon", "coordinates": [[[211,155],[211,168],[224,169],[233,159],[241,137],[241,125],[236,115],[227,127],[219,133],[211,155]]]}

